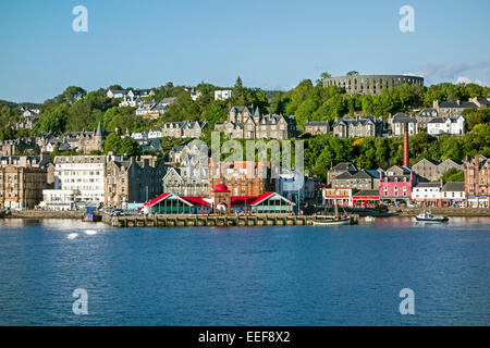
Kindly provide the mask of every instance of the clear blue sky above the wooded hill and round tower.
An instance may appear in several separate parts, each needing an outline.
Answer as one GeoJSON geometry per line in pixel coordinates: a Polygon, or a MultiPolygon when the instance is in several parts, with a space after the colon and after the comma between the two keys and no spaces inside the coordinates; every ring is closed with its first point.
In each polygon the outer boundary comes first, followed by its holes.
{"type": "Polygon", "coordinates": [[[41,102],[71,85],[208,82],[289,89],[323,71],[417,73],[490,85],[488,0],[44,0],[0,3],[0,99],[41,102]],[[75,5],[88,33],[75,33],[75,5]],[[402,5],[415,33],[399,29],[402,5]]]}

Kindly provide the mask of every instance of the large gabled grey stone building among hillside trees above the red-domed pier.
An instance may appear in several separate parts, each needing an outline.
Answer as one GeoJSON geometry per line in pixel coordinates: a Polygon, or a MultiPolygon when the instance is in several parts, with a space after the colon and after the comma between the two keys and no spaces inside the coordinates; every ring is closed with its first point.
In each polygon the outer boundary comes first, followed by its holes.
{"type": "Polygon", "coordinates": [[[289,139],[296,136],[294,116],[265,114],[258,108],[232,107],[228,122],[216,123],[215,129],[223,132],[228,139],[289,139]]]}

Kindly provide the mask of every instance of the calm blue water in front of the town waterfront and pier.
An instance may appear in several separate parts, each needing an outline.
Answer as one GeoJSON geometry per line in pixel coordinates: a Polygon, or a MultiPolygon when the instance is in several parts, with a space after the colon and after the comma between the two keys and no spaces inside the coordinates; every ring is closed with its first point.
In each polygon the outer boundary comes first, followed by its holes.
{"type": "Polygon", "coordinates": [[[490,324],[490,219],[430,227],[0,221],[0,325],[490,324]],[[415,315],[401,315],[402,288],[415,315]],[[88,293],[75,315],[72,293],[88,293]]]}

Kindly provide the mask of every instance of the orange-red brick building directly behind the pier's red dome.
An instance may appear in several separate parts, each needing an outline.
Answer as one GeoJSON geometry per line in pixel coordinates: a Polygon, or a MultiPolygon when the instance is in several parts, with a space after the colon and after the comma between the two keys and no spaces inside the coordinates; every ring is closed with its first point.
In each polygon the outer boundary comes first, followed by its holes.
{"type": "MultiPolygon", "coordinates": [[[[212,162],[209,163],[209,189],[223,184],[233,196],[259,196],[274,191],[277,178],[271,175],[270,163],[262,162],[212,162]]],[[[209,192],[212,195],[212,191],[209,192]]]]}

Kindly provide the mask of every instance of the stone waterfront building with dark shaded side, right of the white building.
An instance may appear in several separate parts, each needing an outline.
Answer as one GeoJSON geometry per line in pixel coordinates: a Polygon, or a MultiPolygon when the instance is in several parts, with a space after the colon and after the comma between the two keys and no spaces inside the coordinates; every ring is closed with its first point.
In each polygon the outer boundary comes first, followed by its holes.
{"type": "Polygon", "coordinates": [[[106,207],[130,209],[162,194],[163,161],[152,156],[109,158],[106,164],[106,207]]]}

